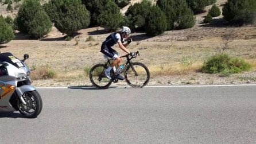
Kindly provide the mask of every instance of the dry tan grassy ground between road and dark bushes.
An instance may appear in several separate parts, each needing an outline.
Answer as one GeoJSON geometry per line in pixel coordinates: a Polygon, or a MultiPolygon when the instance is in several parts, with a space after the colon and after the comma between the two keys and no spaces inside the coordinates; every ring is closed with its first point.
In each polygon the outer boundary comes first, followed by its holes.
{"type": "MultiPolygon", "coordinates": [[[[218,1],[217,5],[222,6],[223,2],[225,1],[218,1]]],[[[191,29],[167,31],[156,37],[147,37],[144,33],[131,34],[134,41],[129,50],[139,50],[141,55],[134,61],[144,63],[152,72],[149,85],[256,83],[256,25],[230,27],[222,20],[222,16],[215,18],[213,24],[201,24],[206,14],[207,12],[196,15],[196,25],[191,29]],[[224,45],[227,48],[223,50],[224,45]],[[161,69],[164,71],[173,65],[176,65],[174,68],[182,69],[184,65],[181,63],[186,57],[191,63],[200,66],[208,57],[222,52],[243,57],[254,68],[249,72],[227,77],[201,73],[193,68],[183,72],[166,71],[159,74],[161,69]]],[[[56,28],[41,40],[30,40],[28,36],[18,34],[15,40],[1,45],[0,51],[11,52],[20,58],[28,53],[30,58],[26,63],[30,68],[37,70],[48,66],[54,69],[55,78],[33,80],[37,87],[92,85],[84,69],[104,63],[99,50],[101,42],[110,33],[102,28],[82,29],[79,33],[71,41],[64,41],[65,35],[56,28]],[[88,41],[88,37],[93,40],[88,41]]],[[[115,48],[121,55],[124,54],[117,46],[115,48]]],[[[127,84],[120,81],[113,85],[127,84]]]]}

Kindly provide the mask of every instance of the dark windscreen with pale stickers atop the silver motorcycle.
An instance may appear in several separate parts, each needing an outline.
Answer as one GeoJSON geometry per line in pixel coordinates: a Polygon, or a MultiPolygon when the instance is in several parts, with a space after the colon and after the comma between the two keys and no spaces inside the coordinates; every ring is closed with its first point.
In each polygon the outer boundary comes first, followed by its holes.
{"type": "Polygon", "coordinates": [[[7,63],[10,63],[17,68],[24,67],[24,64],[22,64],[21,60],[13,56],[11,53],[0,53],[0,61],[6,61],[7,63]]]}

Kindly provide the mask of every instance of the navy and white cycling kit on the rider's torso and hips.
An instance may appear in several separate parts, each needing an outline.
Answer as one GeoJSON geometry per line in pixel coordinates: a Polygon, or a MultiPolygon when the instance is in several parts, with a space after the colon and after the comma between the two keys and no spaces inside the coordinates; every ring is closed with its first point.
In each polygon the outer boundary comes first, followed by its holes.
{"type": "Polygon", "coordinates": [[[112,59],[117,59],[119,54],[111,46],[117,44],[118,42],[124,42],[121,34],[111,33],[110,36],[108,36],[106,40],[103,41],[100,52],[104,53],[104,55],[108,57],[111,57],[112,59]]]}

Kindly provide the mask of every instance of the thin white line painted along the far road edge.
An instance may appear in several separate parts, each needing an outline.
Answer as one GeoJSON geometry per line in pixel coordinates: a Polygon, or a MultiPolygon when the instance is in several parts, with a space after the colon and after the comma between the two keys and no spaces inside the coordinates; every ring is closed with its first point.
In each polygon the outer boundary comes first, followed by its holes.
{"type": "MultiPolygon", "coordinates": [[[[220,85],[152,85],[145,88],[176,88],[176,87],[244,87],[256,86],[256,84],[220,84],[220,85]]],[[[37,89],[67,89],[69,87],[37,87],[37,89]]],[[[93,88],[83,86],[72,86],[72,88],[93,88]]],[[[116,88],[130,88],[129,86],[118,86],[116,88]]]]}

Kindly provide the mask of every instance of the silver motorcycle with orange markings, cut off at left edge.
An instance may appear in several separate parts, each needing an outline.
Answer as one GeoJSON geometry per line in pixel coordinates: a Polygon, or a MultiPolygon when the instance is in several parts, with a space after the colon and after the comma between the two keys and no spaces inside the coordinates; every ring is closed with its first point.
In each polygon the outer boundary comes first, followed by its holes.
{"type": "Polygon", "coordinates": [[[36,118],[42,110],[42,99],[30,79],[25,64],[11,53],[0,53],[0,112],[20,111],[27,118],[36,118]]]}

